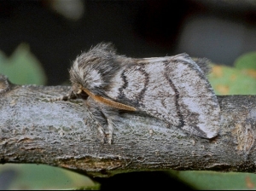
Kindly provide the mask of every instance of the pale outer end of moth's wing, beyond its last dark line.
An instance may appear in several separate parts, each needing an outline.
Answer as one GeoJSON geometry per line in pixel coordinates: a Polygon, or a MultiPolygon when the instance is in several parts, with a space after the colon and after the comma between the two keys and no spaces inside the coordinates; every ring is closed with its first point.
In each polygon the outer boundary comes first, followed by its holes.
{"type": "Polygon", "coordinates": [[[177,102],[184,122],[182,129],[196,136],[217,136],[220,108],[204,72],[186,54],[172,56],[169,61],[166,71],[170,71],[170,79],[179,93],[177,102]]]}

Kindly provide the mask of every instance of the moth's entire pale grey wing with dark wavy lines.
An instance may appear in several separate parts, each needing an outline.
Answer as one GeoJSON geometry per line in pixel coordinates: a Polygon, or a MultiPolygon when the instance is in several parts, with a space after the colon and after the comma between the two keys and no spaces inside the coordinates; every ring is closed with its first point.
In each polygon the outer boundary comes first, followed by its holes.
{"type": "Polygon", "coordinates": [[[217,136],[218,100],[189,55],[134,59],[113,78],[107,94],[195,136],[217,136]]]}

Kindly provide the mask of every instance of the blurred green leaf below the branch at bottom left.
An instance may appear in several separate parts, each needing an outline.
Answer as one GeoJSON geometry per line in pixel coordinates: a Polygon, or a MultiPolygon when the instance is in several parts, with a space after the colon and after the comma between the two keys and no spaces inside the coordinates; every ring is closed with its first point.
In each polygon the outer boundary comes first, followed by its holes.
{"type": "MultiPolygon", "coordinates": [[[[1,174],[7,170],[15,171],[12,183],[7,189],[63,189],[95,186],[89,177],[49,165],[1,165],[0,178],[1,174]]],[[[4,188],[3,186],[2,183],[0,189],[4,188]]]]}

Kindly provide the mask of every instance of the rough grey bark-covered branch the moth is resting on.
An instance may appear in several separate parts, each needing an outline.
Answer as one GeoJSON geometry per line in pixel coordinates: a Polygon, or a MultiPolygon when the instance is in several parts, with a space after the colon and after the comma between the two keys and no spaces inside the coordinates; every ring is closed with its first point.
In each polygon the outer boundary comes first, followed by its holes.
{"type": "Polygon", "coordinates": [[[108,177],[127,171],[254,172],[256,96],[218,96],[220,132],[208,140],[139,113],[122,113],[113,144],[97,139],[83,100],[48,101],[70,87],[12,85],[0,76],[1,163],[36,163],[108,177]]]}

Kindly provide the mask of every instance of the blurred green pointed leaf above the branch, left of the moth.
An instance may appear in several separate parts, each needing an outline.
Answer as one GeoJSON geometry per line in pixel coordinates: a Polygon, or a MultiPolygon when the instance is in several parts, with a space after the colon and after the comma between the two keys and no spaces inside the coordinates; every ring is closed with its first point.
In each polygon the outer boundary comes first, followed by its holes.
{"type": "Polygon", "coordinates": [[[46,83],[43,67],[25,43],[21,43],[9,58],[0,51],[0,73],[14,84],[46,83]]]}

